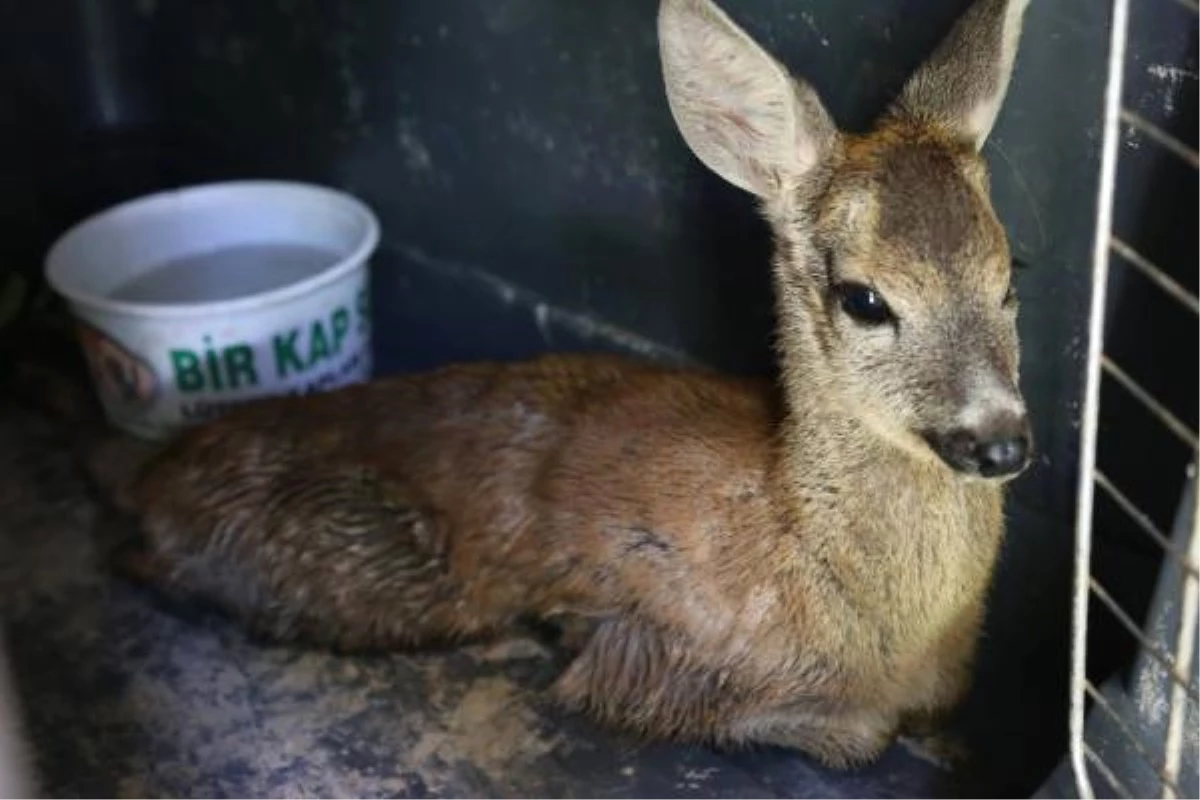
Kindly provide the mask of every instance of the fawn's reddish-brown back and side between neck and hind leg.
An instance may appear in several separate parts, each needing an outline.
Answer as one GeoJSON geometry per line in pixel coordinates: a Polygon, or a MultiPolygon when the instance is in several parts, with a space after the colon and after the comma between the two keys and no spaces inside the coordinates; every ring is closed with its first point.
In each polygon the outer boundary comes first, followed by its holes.
{"type": "Polygon", "coordinates": [[[139,505],[229,517],[238,509],[211,509],[218,487],[254,505],[250,487],[265,497],[362,470],[386,481],[386,501],[437,519],[472,602],[636,602],[715,624],[738,606],[748,540],[775,525],[776,422],[758,381],[598,355],[458,365],[234,411],[157,458],[139,505]]]}

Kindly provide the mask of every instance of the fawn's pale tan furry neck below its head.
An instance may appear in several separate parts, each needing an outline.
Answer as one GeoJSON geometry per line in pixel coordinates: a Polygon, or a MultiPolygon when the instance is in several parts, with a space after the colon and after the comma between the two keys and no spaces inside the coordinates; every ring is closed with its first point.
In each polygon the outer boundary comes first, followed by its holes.
{"type": "Polygon", "coordinates": [[[977,603],[1002,534],[1002,489],[872,432],[853,409],[788,387],[773,480],[806,569],[898,625],[977,603]]]}

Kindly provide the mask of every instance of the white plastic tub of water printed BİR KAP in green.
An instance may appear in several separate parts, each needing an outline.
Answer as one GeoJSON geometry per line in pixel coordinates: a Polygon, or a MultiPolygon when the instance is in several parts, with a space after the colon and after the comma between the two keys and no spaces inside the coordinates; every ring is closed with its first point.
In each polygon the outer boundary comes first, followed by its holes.
{"type": "Polygon", "coordinates": [[[90,217],[46,273],[109,421],[161,439],[247,399],[366,380],[378,241],[376,216],[348,194],[235,181],[90,217]]]}

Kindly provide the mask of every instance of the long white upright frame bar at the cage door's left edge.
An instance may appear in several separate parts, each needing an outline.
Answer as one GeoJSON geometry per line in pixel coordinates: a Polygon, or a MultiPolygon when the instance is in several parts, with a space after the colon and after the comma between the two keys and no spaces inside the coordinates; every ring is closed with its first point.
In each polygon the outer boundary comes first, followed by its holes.
{"type": "Polygon", "coordinates": [[[1096,493],[1096,439],[1099,427],[1100,355],[1104,337],[1104,306],[1109,277],[1109,246],[1112,231],[1112,199],[1116,193],[1117,146],[1121,140],[1121,100],[1126,46],[1129,28],[1129,0],[1112,0],[1112,29],[1109,40],[1109,74],[1104,91],[1104,140],[1096,203],[1096,230],[1092,243],[1092,293],[1087,330],[1087,363],[1080,426],[1079,491],[1075,503],[1075,591],[1072,608],[1074,640],[1070,658],[1070,762],[1081,800],[1094,800],[1087,774],[1084,742],[1087,684],[1087,603],[1092,564],[1092,516],[1096,493]]]}

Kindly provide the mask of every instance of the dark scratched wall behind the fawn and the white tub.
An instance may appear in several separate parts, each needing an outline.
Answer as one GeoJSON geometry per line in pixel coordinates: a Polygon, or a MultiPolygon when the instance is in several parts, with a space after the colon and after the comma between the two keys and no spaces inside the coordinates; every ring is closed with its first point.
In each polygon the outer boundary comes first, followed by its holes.
{"type": "MultiPolygon", "coordinates": [[[[766,229],[672,127],[655,5],[0,0],[0,257],[36,269],[65,224],[164,186],[317,180],[383,219],[383,371],[578,348],[769,371],[766,229]]],[[[725,2],[856,128],[965,5],[725,2]]],[[[1105,5],[1032,5],[985,151],[1031,265],[1019,278],[1022,365],[1040,452],[1015,487],[970,706],[1014,787],[1062,740],[1105,5]]],[[[1168,103],[1190,73],[1153,55],[1157,31],[1138,36],[1146,102],[1183,113],[1168,103]]]]}

